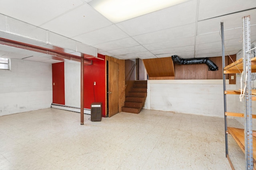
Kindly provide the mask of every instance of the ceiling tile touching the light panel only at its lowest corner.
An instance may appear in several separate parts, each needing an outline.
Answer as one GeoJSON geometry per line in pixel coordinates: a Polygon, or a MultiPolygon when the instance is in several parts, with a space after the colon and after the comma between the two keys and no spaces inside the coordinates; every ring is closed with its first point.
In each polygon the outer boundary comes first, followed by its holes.
{"type": "Polygon", "coordinates": [[[76,41],[80,41],[87,45],[95,45],[126,37],[129,36],[126,33],[124,33],[124,31],[122,31],[116,25],[110,25],[101,29],[97,29],[95,31],[78,35],[76,37],[73,37],[72,39],[75,39],[76,41]]]}

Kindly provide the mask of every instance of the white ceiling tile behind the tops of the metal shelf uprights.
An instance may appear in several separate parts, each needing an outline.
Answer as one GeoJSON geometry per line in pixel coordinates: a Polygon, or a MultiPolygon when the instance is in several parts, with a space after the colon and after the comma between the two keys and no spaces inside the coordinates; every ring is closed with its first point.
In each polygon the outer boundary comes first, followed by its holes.
{"type": "Polygon", "coordinates": [[[256,23],[256,9],[245,12],[239,12],[209,20],[198,21],[197,35],[220,31],[220,22],[223,22],[224,29],[242,27],[242,17],[250,15],[251,24],[256,23]]]}

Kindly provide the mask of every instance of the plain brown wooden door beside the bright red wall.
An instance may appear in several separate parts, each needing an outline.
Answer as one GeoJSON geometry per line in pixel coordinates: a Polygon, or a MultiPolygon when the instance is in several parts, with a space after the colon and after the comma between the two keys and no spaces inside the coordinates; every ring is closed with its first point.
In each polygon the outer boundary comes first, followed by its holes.
{"type": "Polygon", "coordinates": [[[118,63],[109,61],[108,66],[108,117],[118,113],[118,63]]]}

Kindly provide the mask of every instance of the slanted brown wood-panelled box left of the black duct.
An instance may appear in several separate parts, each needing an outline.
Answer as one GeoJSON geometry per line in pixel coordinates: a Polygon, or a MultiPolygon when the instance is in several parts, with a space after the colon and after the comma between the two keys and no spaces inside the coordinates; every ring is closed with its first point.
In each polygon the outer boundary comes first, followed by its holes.
{"type": "Polygon", "coordinates": [[[146,67],[150,80],[162,79],[163,77],[164,79],[174,78],[174,64],[172,57],[144,59],[143,63],[146,67]]]}

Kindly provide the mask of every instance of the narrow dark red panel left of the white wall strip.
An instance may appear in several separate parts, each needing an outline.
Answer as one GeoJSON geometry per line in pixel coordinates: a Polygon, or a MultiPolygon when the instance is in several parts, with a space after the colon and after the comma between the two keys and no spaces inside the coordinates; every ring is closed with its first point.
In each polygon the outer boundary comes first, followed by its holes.
{"type": "Polygon", "coordinates": [[[64,62],[52,64],[52,103],[65,104],[64,62]]]}

